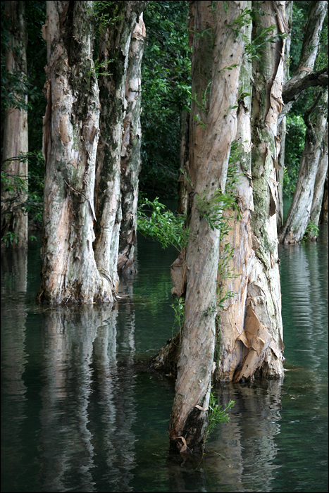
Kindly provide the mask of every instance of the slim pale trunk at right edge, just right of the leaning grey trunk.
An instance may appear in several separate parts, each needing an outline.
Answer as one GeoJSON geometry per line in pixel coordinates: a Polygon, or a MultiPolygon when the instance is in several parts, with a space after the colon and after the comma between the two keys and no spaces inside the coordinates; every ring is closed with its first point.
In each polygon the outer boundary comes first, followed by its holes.
{"type": "MultiPolygon", "coordinates": [[[[328,175],[328,120],[325,135],[321,146],[321,156],[318,161],[318,171],[314,184],[314,194],[309,220],[314,225],[318,225],[320,220],[321,206],[323,202],[325,177],[328,175]]],[[[316,234],[309,234],[309,239],[316,239],[316,234]]]]}

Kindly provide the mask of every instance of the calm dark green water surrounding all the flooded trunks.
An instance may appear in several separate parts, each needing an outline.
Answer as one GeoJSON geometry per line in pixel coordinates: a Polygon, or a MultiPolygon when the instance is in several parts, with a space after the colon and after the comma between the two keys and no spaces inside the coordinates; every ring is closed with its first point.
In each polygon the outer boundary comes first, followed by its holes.
{"type": "Polygon", "coordinates": [[[39,245],[1,257],[2,492],[328,491],[328,227],[280,248],[285,379],[218,387],[200,464],[168,455],[173,382],[133,365],[171,336],[174,259],[139,238],[115,306],[40,308],[39,245]]]}

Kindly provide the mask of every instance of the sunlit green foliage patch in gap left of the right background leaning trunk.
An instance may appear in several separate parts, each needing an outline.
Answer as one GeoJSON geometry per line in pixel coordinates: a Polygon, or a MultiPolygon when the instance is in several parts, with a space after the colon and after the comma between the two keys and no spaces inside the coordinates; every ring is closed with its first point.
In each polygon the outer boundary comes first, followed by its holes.
{"type": "Polygon", "coordinates": [[[285,173],[283,175],[283,194],[291,196],[296,188],[299,163],[305,143],[306,125],[300,115],[287,114],[287,137],[285,139],[285,173]]]}

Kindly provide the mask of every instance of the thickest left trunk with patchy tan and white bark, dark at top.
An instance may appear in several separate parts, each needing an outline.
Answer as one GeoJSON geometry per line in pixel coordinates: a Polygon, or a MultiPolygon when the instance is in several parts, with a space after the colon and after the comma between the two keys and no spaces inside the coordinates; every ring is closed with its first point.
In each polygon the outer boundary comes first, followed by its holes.
{"type": "Polygon", "coordinates": [[[48,1],[42,282],[38,301],[113,301],[94,258],[94,182],[99,89],[92,1],[48,1]]]}

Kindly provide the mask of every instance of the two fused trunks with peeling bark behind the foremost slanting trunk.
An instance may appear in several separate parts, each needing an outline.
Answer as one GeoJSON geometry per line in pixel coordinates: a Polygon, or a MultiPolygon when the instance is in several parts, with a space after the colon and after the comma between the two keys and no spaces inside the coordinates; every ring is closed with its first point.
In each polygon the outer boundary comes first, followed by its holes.
{"type": "MultiPolygon", "coordinates": [[[[254,36],[276,19],[277,31],[285,32],[285,4],[258,2],[261,15],[254,36]],[[274,14],[277,14],[274,16],[274,14]]],[[[258,11],[258,10],[257,10],[258,11]]],[[[277,119],[283,106],[284,42],[266,44],[260,61],[254,61],[253,77],[244,62],[241,85],[252,92],[252,144],[250,142],[250,102],[244,97],[239,108],[239,140],[242,177],[237,200],[242,215],[231,221],[228,242],[234,247],[229,268],[234,279],[221,279],[222,290],[234,296],[225,301],[219,315],[216,379],[239,381],[255,373],[269,377],[283,375],[283,326],[278,271],[278,237],[275,204],[278,197],[277,166],[280,140],[277,119]],[[251,156],[248,155],[252,149],[251,156]],[[251,163],[250,163],[251,158],[251,163]],[[250,170],[251,167],[251,170],[250,170]],[[253,204],[254,202],[254,204],[253,204]]]]}

